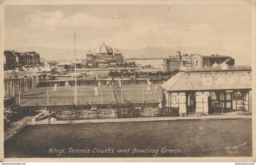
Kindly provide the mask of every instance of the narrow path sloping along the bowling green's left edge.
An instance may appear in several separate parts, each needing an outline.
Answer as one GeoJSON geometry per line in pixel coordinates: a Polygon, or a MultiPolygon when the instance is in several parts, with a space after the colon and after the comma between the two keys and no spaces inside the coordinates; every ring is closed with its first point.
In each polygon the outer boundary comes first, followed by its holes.
{"type": "Polygon", "coordinates": [[[13,135],[18,133],[24,126],[27,125],[27,121],[31,121],[34,116],[26,116],[19,121],[14,123],[10,123],[10,126],[4,132],[4,141],[9,140],[12,138],[13,135]]]}

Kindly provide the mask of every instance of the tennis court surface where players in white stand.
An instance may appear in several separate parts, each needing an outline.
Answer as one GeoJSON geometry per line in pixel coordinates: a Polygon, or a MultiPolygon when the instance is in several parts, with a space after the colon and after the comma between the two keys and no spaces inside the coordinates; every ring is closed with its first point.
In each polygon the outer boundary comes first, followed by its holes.
{"type": "MultiPolygon", "coordinates": [[[[128,101],[140,102],[142,101],[142,89],[144,90],[144,101],[157,101],[162,98],[162,90],[158,87],[158,91],[155,92],[152,87],[152,93],[147,94],[145,85],[124,85],[123,93],[128,101]]],[[[32,89],[21,95],[21,106],[38,106],[47,105],[47,90],[49,93],[49,105],[70,105],[74,103],[74,86],[71,87],[57,87],[57,91],[54,91],[54,87],[40,87],[32,89]]],[[[78,103],[101,103],[101,91],[102,91],[102,103],[116,102],[115,95],[113,93],[113,87],[101,86],[98,88],[98,96],[94,96],[94,86],[77,86],[77,102],[78,103]]],[[[16,98],[18,103],[18,98],[16,98]]]]}

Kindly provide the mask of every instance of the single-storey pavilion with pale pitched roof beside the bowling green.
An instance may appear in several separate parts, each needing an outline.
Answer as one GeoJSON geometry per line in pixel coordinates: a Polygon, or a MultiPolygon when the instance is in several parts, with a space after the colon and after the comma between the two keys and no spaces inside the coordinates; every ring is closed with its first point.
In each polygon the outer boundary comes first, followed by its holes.
{"type": "Polygon", "coordinates": [[[252,113],[249,67],[180,71],[161,87],[165,106],[179,107],[180,115],[234,110],[252,113]]]}

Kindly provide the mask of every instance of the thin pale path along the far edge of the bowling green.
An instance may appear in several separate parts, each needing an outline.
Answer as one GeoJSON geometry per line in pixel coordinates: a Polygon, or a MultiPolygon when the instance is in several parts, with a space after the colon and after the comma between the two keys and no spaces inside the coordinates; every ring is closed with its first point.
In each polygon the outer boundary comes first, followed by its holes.
{"type": "MultiPolygon", "coordinates": [[[[123,123],[123,122],[146,122],[146,121],[172,121],[172,120],[227,120],[252,118],[247,115],[208,115],[208,116],[179,116],[179,117],[154,117],[154,118],[111,118],[93,120],[65,120],[51,121],[51,124],[78,124],[78,123],[123,123]]],[[[28,123],[29,125],[32,122],[28,123]]],[[[48,124],[48,120],[36,121],[35,124],[48,124]]]]}

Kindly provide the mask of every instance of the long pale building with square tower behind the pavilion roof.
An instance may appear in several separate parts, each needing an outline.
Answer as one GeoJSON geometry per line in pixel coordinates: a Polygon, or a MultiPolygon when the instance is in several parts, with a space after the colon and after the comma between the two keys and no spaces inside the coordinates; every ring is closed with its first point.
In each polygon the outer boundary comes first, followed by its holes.
{"type": "Polygon", "coordinates": [[[163,59],[164,69],[168,71],[179,70],[180,67],[202,69],[204,67],[212,67],[213,64],[233,66],[235,59],[224,55],[201,56],[198,53],[181,55],[180,51],[177,51],[176,56],[169,56],[163,59]]]}

